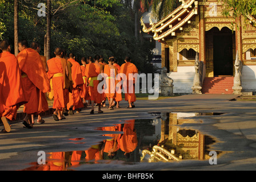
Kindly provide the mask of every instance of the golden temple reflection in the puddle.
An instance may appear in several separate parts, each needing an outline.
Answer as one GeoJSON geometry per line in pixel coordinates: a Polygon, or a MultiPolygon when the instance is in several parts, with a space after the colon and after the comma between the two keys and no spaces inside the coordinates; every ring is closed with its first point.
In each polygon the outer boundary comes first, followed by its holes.
{"type": "Polygon", "coordinates": [[[215,113],[162,113],[161,139],[157,146],[142,151],[142,159],[150,155],[149,162],[171,162],[181,159],[207,159],[207,144],[214,141],[200,131],[180,128],[182,123],[198,123],[190,117],[215,115],[215,113]]]}

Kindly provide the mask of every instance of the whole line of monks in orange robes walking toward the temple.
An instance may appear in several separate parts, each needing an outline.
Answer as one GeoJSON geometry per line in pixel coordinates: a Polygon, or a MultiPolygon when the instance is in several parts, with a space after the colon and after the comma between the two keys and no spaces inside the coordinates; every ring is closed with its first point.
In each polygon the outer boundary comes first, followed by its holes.
{"type": "Polygon", "coordinates": [[[131,81],[123,81],[124,84],[120,86],[118,84],[122,77],[117,79],[118,73],[127,77],[130,73],[138,73],[129,56],[125,57],[125,63],[121,66],[113,56],[105,63],[103,57],[98,55],[82,57],[80,65],[73,53],[67,55],[61,47],[55,48],[55,57],[49,60],[39,54],[41,47],[38,42],[32,42],[29,47],[27,40],[21,40],[18,49],[19,53],[15,56],[10,52],[7,40],[0,42],[0,117],[4,126],[2,131],[11,131],[10,121],[15,120],[22,105],[23,113],[26,113],[23,119],[25,127],[33,128],[35,115],[38,115],[37,123],[44,123],[41,114],[49,110],[47,97],[54,100],[55,121],[65,119],[65,115],[72,115],[75,110],[79,113],[87,104],[91,105],[90,114],[94,114],[95,106],[98,106],[98,113],[103,113],[102,107],[106,106],[106,100],[109,101],[108,109],[113,110],[114,106],[119,108],[122,86],[127,86],[127,108],[135,107],[134,78],[131,81]],[[99,80],[98,76],[102,73],[106,77],[99,80]],[[104,92],[99,92],[98,85],[104,79],[107,83],[102,86],[104,92]],[[133,89],[128,89],[130,86],[133,89]]]}

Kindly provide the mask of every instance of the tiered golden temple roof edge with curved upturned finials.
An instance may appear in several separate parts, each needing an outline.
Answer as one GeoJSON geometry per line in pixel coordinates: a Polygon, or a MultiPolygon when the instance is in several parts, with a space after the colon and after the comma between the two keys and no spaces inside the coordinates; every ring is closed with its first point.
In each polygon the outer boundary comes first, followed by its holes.
{"type": "Polygon", "coordinates": [[[182,30],[182,26],[186,23],[191,23],[191,18],[198,13],[198,1],[179,1],[182,2],[182,5],[157,23],[153,23],[151,18],[149,18],[150,26],[146,26],[143,23],[142,17],[142,31],[153,35],[154,40],[165,40],[169,36],[175,36],[175,31],[182,30]]]}

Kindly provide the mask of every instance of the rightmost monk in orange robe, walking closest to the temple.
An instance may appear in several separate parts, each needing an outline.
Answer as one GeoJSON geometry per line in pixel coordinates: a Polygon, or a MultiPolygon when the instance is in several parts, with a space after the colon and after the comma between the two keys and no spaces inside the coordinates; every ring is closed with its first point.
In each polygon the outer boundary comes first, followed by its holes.
{"type": "Polygon", "coordinates": [[[129,56],[126,56],[125,63],[121,65],[120,73],[123,73],[126,75],[127,81],[124,81],[123,86],[127,89],[127,92],[125,93],[125,100],[129,103],[129,106],[127,108],[133,108],[134,102],[136,101],[135,96],[135,79],[133,77],[130,78],[129,74],[135,74],[138,73],[137,67],[131,63],[131,59],[129,56]],[[133,90],[129,91],[133,87],[133,90]]]}

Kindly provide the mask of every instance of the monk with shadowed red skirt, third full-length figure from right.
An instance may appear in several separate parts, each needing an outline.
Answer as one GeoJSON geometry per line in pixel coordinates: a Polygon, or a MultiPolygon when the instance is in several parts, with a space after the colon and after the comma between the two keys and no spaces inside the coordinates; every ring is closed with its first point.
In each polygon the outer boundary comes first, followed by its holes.
{"type": "Polygon", "coordinates": [[[103,72],[103,65],[99,64],[99,56],[94,57],[94,63],[93,60],[91,60],[91,63],[86,65],[85,68],[85,76],[86,76],[86,85],[89,86],[89,93],[91,94],[91,112],[90,114],[94,114],[94,103],[98,104],[98,113],[103,113],[101,110],[101,102],[102,102],[102,93],[98,92],[98,84],[99,80],[97,80],[97,77],[99,73],[103,72]]]}

